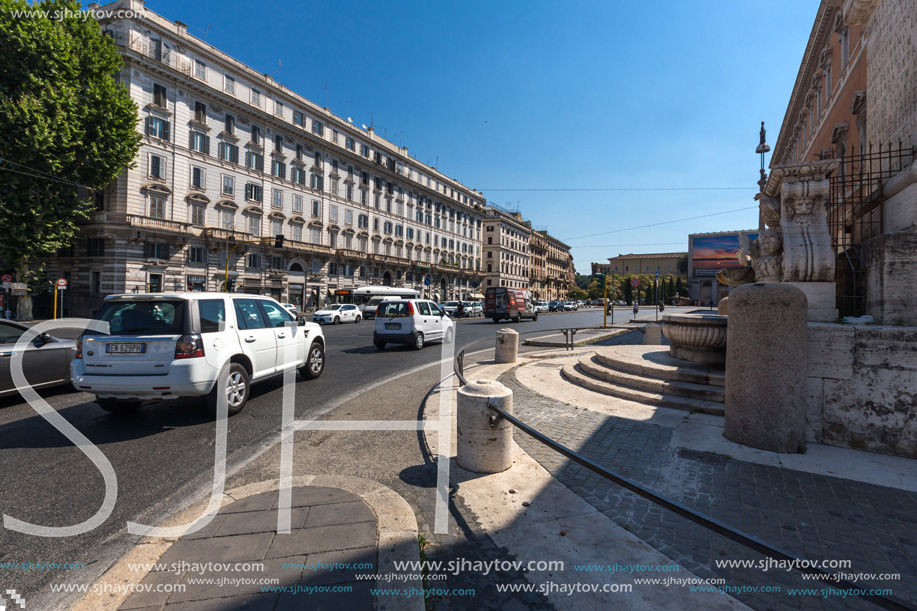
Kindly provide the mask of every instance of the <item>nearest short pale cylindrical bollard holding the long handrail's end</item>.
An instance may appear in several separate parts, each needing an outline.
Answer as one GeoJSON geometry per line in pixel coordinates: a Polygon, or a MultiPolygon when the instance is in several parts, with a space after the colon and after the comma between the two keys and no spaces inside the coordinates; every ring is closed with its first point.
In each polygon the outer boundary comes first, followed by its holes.
{"type": "Polygon", "coordinates": [[[513,413],[513,392],[495,380],[469,382],[458,390],[458,465],[475,473],[499,473],[513,466],[513,425],[505,420],[491,428],[496,412],[513,413]]]}

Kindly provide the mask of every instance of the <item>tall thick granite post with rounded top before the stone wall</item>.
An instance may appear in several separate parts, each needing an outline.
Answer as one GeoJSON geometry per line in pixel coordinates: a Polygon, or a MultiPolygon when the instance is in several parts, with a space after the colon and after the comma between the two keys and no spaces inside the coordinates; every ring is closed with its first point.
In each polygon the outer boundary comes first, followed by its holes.
{"type": "Polygon", "coordinates": [[[806,296],[782,283],[729,296],[726,439],[771,452],[806,448],[806,296]]]}

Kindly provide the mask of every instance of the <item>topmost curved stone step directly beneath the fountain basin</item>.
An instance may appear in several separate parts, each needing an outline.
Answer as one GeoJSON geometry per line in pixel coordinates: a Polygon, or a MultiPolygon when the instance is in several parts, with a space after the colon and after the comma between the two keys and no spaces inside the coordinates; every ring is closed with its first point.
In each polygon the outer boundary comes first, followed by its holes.
{"type": "Polygon", "coordinates": [[[644,378],[726,387],[726,374],[722,368],[676,359],[662,346],[655,350],[650,346],[599,348],[595,360],[605,367],[644,378]]]}

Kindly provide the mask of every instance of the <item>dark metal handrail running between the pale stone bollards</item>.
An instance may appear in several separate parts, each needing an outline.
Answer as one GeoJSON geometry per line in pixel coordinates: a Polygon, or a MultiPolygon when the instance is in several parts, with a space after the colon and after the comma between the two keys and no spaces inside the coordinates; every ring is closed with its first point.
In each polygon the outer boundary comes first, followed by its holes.
{"type": "MultiPolygon", "coordinates": [[[[582,331],[582,330],[595,329],[595,328],[601,329],[602,327],[579,327],[577,330],[582,331]]],[[[616,328],[621,328],[621,327],[616,327],[616,328]]],[[[624,328],[629,328],[629,327],[624,327],[624,328]]],[[[637,329],[634,329],[634,330],[636,331],[637,329]]],[[[539,329],[536,331],[526,331],[524,333],[520,333],[519,335],[528,335],[530,333],[546,333],[546,332],[551,332],[551,331],[567,331],[567,329],[547,329],[547,330],[539,329]]],[[[460,386],[464,386],[465,384],[468,383],[467,380],[465,380],[465,375],[464,375],[465,373],[465,351],[468,348],[470,348],[471,346],[480,344],[482,342],[489,342],[489,341],[492,341],[492,339],[489,337],[484,338],[484,339],[475,340],[463,346],[462,349],[455,355],[455,359],[453,361],[453,372],[455,373],[455,376],[458,378],[460,386]]],[[[728,524],[725,524],[724,522],[720,522],[719,520],[712,518],[706,514],[703,514],[699,511],[695,511],[694,509],[691,509],[690,507],[686,505],[682,505],[678,501],[672,500],[660,494],[656,494],[649,488],[646,488],[645,486],[642,486],[641,484],[638,484],[637,482],[634,482],[624,477],[623,475],[615,473],[614,471],[606,469],[602,465],[592,460],[589,460],[588,458],[580,456],[573,450],[567,448],[566,446],[561,445],[560,443],[554,441],[550,437],[542,433],[539,433],[538,431],[536,431],[529,425],[525,424],[524,422],[522,422],[515,416],[507,414],[504,410],[500,409],[499,407],[496,407],[495,405],[491,403],[488,403],[487,407],[496,414],[496,418],[491,419],[491,427],[496,426],[500,420],[506,420],[507,422],[509,422],[516,428],[518,428],[520,431],[522,431],[526,435],[532,437],[533,439],[535,439],[536,441],[540,443],[543,443],[544,445],[548,446],[555,452],[559,452],[560,454],[566,456],[567,458],[577,463],[578,465],[581,465],[589,469],[590,471],[592,471],[593,473],[597,475],[601,475],[605,479],[608,479],[614,482],[615,484],[621,486],[622,488],[626,490],[630,490],[634,494],[645,498],[646,500],[650,501],[651,503],[655,505],[659,505],[660,507],[668,509],[669,511],[674,512],[676,515],[686,518],[694,522],[695,524],[699,524],[700,526],[703,526],[704,528],[708,530],[712,530],[713,532],[726,537],[730,541],[734,541],[740,545],[743,545],[749,549],[752,549],[769,558],[776,558],[778,560],[788,561],[791,563],[792,567],[795,570],[801,573],[805,573],[807,575],[816,577],[817,579],[824,581],[825,583],[828,583],[831,586],[836,587],[838,589],[842,589],[848,592],[852,591],[854,593],[854,596],[861,598],[867,602],[870,602],[883,609],[917,611],[917,607],[914,607],[910,603],[903,601],[900,598],[897,598],[895,596],[879,596],[875,594],[865,594],[864,592],[872,591],[872,590],[875,590],[876,588],[864,588],[863,586],[866,584],[862,584],[862,583],[856,584],[856,583],[847,581],[846,579],[842,579],[837,575],[832,575],[831,573],[822,571],[821,569],[814,568],[813,565],[816,563],[813,563],[808,560],[804,560],[780,548],[773,547],[772,545],[766,543],[765,541],[762,541],[761,539],[758,539],[757,537],[753,535],[745,533],[737,528],[733,528],[732,526],[729,526],[728,524]]],[[[819,562],[817,564],[821,564],[821,563],[819,562]]]]}

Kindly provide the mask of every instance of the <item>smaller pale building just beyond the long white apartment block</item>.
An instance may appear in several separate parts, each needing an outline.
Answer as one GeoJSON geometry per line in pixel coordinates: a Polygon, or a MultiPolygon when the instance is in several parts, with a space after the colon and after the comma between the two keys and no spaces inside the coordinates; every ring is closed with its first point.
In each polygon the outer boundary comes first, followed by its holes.
{"type": "Polygon", "coordinates": [[[528,289],[532,225],[519,212],[488,206],[482,233],[483,277],[491,286],[528,289]]]}

